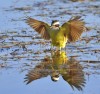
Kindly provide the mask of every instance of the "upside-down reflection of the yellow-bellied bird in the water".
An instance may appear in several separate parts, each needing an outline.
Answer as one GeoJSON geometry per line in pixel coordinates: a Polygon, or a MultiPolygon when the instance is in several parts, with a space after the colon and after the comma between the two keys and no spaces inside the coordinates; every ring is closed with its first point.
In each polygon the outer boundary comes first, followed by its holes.
{"type": "Polygon", "coordinates": [[[30,82],[51,76],[51,80],[57,82],[59,76],[72,87],[82,90],[85,85],[84,72],[81,64],[74,58],[68,59],[65,51],[57,51],[46,56],[41,63],[31,69],[26,75],[25,81],[30,82]]]}

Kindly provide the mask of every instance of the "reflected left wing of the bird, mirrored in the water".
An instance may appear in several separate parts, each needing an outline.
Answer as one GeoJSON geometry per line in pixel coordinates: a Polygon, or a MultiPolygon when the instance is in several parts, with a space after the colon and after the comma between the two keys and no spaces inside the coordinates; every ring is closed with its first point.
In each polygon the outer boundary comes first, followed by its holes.
{"type": "Polygon", "coordinates": [[[34,80],[38,80],[44,77],[47,77],[50,74],[50,71],[48,71],[48,66],[50,66],[50,63],[42,62],[39,65],[35,66],[35,68],[31,69],[25,77],[25,81],[27,84],[34,80]]]}

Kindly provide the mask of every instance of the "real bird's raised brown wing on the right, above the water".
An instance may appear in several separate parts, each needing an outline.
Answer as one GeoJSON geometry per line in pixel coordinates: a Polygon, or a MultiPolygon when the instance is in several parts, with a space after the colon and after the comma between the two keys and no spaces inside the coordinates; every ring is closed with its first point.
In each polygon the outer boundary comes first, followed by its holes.
{"type": "Polygon", "coordinates": [[[80,18],[80,16],[71,18],[61,27],[64,35],[68,37],[70,42],[77,41],[80,38],[82,32],[85,30],[84,22],[80,18]]]}

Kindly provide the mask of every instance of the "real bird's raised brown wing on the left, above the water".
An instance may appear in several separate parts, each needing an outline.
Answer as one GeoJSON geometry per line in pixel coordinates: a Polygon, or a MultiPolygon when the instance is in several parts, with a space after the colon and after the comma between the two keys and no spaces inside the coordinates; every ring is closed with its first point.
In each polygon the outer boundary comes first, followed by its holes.
{"type": "Polygon", "coordinates": [[[42,21],[38,21],[38,20],[33,19],[33,18],[28,18],[26,23],[28,23],[28,25],[30,25],[33,29],[35,29],[36,32],[41,34],[41,36],[44,39],[47,39],[47,40],[50,39],[50,35],[49,35],[49,31],[48,31],[50,26],[47,23],[44,23],[42,21]]]}

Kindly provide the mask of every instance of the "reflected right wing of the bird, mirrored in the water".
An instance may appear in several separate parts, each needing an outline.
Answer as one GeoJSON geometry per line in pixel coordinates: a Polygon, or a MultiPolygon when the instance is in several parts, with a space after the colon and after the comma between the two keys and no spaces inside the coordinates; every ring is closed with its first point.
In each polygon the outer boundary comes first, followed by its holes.
{"type": "Polygon", "coordinates": [[[72,89],[77,88],[78,90],[83,90],[86,84],[83,67],[79,64],[79,61],[70,58],[67,61],[66,73],[62,74],[62,78],[68,82],[72,89]]]}

